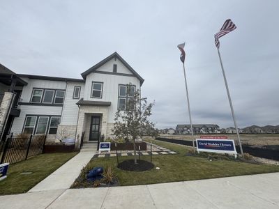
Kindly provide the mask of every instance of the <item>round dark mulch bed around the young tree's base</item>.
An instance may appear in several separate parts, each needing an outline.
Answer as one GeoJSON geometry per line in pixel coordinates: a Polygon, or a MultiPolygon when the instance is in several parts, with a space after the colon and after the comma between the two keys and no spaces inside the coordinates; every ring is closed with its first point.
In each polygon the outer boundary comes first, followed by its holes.
{"type": "Polygon", "coordinates": [[[146,160],[137,160],[135,164],[134,160],[124,160],[117,166],[124,171],[148,171],[153,169],[154,165],[146,160]]]}

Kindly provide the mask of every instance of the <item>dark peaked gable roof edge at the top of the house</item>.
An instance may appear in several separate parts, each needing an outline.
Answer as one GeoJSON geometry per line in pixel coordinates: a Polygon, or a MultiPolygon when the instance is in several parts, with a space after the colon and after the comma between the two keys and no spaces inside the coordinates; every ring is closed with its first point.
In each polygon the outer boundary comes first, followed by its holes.
{"type": "MultiPolygon", "coordinates": [[[[89,68],[85,72],[82,72],[82,77],[85,79],[86,76],[89,75],[91,72],[95,72],[98,68],[100,68],[100,66],[102,66],[103,64],[107,63],[108,61],[110,61],[111,59],[114,59],[114,58],[119,59],[119,61],[121,61],[121,63],[123,63],[123,65],[125,65],[125,67],[128,68],[128,70],[130,70],[130,72],[132,72],[132,74],[135,77],[137,77],[137,79],[140,80],[140,85],[142,85],[142,83],[144,82],[144,79],[142,77],[140,77],[140,75],[138,75],[137,72],[135,72],[135,70],[117,52],[114,52],[113,54],[111,54],[110,56],[107,56],[107,58],[103,59],[96,65],[93,65],[93,67],[89,68]]],[[[125,75],[123,73],[117,73],[117,72],[111,72],[110,74],[125,75]]]]}

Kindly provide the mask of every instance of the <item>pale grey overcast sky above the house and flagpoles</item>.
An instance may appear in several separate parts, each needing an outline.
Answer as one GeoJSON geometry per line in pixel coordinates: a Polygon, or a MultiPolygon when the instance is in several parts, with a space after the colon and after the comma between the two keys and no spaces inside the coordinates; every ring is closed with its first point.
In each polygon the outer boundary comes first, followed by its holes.
{"type": "Polygon", "coordinates": [[[220,38],[239,127],[279,125],[279,1],[1,1],[0,63],[17,73],[81,78],[118,52],[156,101],[158,128],[189,123],[177,45],[186,42],[193,123],[233,126],[213,34],[220,38]],[[94,3],[95,2],[95,3],[94,3]]]}

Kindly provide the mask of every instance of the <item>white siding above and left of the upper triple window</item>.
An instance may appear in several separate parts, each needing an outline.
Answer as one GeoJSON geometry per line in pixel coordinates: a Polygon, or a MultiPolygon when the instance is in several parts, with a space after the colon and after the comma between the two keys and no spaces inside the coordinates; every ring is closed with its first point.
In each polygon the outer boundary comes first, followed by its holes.
{"type": "Polygon", "coordinates": [[[49,80],[41,80],[41,79],[27,79],[24,78],[26,82],[28,82],[27,86],[24,86],[22,89],[22,102],[30,102],[33,88],[54,88],[54,89],[66,89],[66,82],[56,82],[49,80]]]}

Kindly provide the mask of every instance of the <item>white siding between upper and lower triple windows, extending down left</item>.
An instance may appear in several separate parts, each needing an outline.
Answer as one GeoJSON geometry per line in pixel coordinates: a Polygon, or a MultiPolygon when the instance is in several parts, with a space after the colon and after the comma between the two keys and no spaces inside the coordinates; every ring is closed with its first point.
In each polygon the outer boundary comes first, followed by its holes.
{"type": "Polygon", "coordinates": [[[15,117],[10,132],[15,134],[22,132],[26,115],[61,116],[61,111],[62,107],[22,105],[20,107],[20,116],[15,117]]]}

